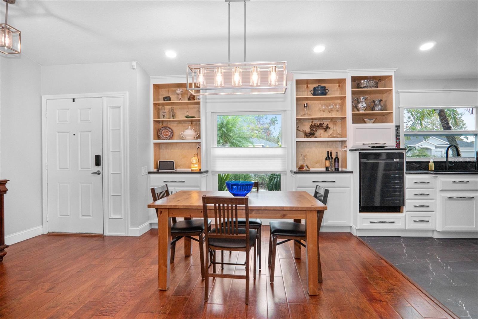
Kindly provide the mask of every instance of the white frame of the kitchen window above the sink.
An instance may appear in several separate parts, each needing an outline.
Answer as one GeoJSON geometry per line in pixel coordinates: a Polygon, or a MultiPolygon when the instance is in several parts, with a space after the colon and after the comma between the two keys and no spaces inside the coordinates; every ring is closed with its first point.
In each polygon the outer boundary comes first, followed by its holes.
{"type": "MultiPolygon", "coordinates": [[[[443,135],[455,135],[455,136],[463,136],[463,135],[472,135],[475,137],[475,152],[478,149],[478,105],[434,105],[434,106],[401,106],[400,107],[400,145],[401,147],[405,147],[405,137],[406,136],[443,136],[443,135]],[[474,115],[475,115],[475,129],[474,130],[460,130],[460,131],[405,131],[404,125],[404,113],[405,109],[466,109],[466,108],[473,108],[474,115]]],[[[413,160],[413,161],[429,161],[430,159],[434,159],[435,161],[445,160],[445,158],[436,158],[436,157],[417,157],[417,158],[407,158],[405,160],[413,160]]]]}

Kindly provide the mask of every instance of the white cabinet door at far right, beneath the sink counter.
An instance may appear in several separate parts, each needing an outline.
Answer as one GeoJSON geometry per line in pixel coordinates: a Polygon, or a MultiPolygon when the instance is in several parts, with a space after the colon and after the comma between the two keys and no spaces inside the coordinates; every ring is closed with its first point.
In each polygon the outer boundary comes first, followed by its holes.
{"type": "Polygon", "coordinates": [[[477,231],[478,194],[450,192],[438,196],[437,230],[477,231]]]}

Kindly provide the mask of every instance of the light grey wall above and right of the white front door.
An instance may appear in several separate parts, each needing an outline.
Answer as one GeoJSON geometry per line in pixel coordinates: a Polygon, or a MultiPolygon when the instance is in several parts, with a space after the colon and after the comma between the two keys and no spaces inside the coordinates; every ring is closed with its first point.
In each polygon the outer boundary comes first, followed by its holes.
{"type": "Polygon", "coordinates": [[[141,176],[141,166],[151,165],[149,75],[139,65],[132,69],[131,62],[42,67],[42,95],[119,91],[129,92],[130,227],[138,228],[148,221],[147,175],[141,176]]]}

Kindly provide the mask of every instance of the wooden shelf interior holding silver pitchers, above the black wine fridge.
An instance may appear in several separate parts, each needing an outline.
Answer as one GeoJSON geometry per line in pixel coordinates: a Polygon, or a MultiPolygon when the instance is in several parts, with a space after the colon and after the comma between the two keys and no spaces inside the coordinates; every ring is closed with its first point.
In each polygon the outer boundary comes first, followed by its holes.
{"type": "MultiPolygon", "coordinates": [[[[367,103],[367,109],[365,112],[357,112],[356,108],[352,109],[352,123],[353,124],[365,124],[364,118],[376,118],[373,124],[393,123],[393,77],[390,76],[359,76],[352,77],[352,99],[360,98],[361,96],[367,96],[365,103],[367,103]],[[378,89],[357,89],[357,83],[354,80],[382,80],[379,82],[378,89]],[[373,100],[383,100],[383,113],[373,112],[370,109],[370,103],[373,100]]],[[[354,103],[357,101],[353,101],[354,103]]],[[[372,103],[373,105],[373,103],[372,103]]]]}

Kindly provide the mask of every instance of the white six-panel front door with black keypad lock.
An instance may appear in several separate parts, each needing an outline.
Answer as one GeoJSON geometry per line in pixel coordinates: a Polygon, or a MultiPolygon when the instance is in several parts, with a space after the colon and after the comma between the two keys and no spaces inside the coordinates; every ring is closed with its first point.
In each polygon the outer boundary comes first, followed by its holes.
{"type": "Polygon", "coordinates": [[[48,232],[102,234],[102,99],[48,100],[46,112],[48,232]]]}

